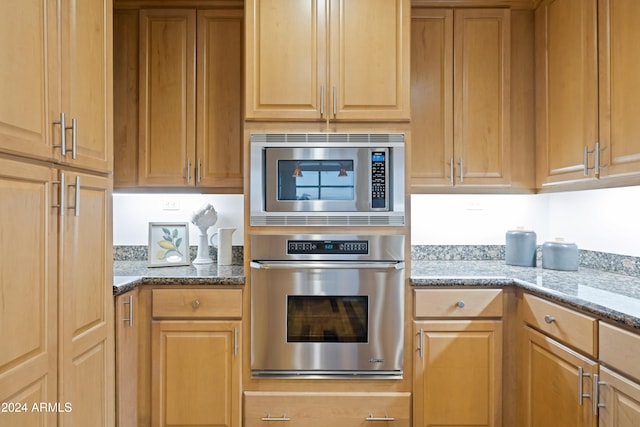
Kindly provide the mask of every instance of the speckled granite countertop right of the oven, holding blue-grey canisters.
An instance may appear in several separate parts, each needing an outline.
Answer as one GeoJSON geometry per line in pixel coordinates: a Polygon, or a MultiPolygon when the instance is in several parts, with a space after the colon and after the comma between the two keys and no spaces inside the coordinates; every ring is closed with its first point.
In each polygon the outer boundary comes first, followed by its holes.
{"type": "Polygon", "coordinates": [[[413,286],[515,285],[550,300],[640,330],[640,277],[580,268],[516,267],[504,261],[411,261],[413,286]]]}

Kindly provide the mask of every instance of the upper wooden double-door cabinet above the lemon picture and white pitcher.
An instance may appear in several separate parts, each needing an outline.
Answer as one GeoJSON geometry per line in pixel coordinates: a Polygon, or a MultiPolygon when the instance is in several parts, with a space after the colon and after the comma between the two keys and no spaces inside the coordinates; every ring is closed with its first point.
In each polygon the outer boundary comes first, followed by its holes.
{"type": "Polygon", "coordinates": [[[122,10],[115,25],[115,186],[241,192],[242,10],[122,10]]]}

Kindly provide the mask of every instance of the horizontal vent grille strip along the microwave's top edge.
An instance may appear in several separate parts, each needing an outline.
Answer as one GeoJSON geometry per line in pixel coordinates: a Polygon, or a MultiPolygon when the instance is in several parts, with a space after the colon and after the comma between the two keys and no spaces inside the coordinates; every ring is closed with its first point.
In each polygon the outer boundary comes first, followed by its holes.
{"type": "Polygon", "coordinates": [[[402,133],[254,133],[251,142],[255,143],[359,143],[388,144],[404,143],[402,133]]]}

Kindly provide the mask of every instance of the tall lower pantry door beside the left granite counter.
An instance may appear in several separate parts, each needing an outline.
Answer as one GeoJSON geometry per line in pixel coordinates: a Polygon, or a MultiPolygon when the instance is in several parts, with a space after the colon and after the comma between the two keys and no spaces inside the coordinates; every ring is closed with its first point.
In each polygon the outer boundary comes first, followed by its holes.
{"type": "Polygon", "coordinates": [[[65,173],[60,221],[61,426],[115,423],[111,181],[65,173]],[[79,180],[77,179],[79,178],[79,180]]]}

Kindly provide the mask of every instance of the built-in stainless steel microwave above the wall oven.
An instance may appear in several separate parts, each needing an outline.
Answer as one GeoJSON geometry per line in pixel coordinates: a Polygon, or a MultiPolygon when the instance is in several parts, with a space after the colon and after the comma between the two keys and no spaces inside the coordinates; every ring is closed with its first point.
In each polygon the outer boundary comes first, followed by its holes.
{"type": "Polygon", "coordinates": [[[404,225],[404,134],[251,135],[251,225],[404,225]]]}

